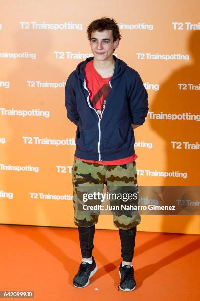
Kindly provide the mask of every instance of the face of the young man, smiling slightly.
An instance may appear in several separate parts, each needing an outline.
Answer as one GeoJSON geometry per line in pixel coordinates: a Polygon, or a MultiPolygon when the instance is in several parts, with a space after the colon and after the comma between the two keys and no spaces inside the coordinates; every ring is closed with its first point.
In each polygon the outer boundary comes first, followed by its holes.
{"type": "Polygon", "coordinates": [[[113,49],[118,47],[119,39],[113,42],[112,30],[95,31],[91,34],[89,44],[96,60],[110,60],[113,49]]]}

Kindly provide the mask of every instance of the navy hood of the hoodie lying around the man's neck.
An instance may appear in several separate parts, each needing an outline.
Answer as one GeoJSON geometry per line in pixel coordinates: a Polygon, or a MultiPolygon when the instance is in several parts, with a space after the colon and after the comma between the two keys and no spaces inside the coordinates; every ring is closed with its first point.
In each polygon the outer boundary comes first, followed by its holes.
{"type": "MultiPolygon", "coordinates": [[[[114,74],[111,80],[122,75],[122,73],[124,73],[125,69],[127,68],[127,64],[123,60],[118,59],[115,55],[113,55],[113,59],[115,60],[116,64],[115,64],[114,74]]],[[[94,57],[89,57],[85,61],[81,61],[77,65],[76,74],[82,80],[84,80],[85,78],[84,67],[90,60],[94,60],[94,57]]]]}

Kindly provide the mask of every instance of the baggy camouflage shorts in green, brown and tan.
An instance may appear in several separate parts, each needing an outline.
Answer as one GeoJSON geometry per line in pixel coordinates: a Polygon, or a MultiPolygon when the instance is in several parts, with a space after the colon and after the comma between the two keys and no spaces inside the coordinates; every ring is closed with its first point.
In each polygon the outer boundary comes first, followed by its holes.
{"type": "MultiPolygon", "coordinates": [[[[128,188],[131,187],[132,190],[138,193],[136,163],[133,161],[124,165],[101,165],[75,158],[72,168],[72,183],[74,223],[79,227],[91,227],[98,222],[101,210],[95,212],[83,210],[83,205],[86,204],[83,201],[83,193],[94,193],[94,191],[102,193],[104,185],[106,185],[107,192],[111,190],[113,192],[115,189],[127,188],[125,186],[128,186],[128,188]]],[[[90,201],[90,204],[92,201],[90,201]]],[[[95,201],[95,204],[102,203],[101,201],[95,201]]],[[[134,205],[138,205],[138,201],[134,205]]],[[[131,229],[139,225],[141,221],[138,211],[134,211],[133,214],[113,214],[112,212],[112,215],[114,226],[118,229],[131,229]]]]}

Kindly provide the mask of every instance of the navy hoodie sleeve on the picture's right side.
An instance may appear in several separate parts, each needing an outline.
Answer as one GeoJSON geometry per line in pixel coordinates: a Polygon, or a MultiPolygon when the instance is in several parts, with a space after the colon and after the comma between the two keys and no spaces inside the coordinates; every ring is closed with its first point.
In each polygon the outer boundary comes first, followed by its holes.
{"type": "Polygon", "coordinates": [[[148,93],[137,71],[128,93],[131,123],[142,125],[148,113],[148,93]]]}

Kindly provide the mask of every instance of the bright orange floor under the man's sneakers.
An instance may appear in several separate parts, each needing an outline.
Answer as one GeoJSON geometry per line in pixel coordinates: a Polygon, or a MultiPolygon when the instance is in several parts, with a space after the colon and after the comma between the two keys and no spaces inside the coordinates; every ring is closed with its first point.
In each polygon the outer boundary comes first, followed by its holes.
{"type": "Polygon", "coordinates": [[[137,232],[133,292],[117,290],[118,231],[96,230],[94,244],[98,271],[78,289],[77,229],[0,225],[0,290],[33,290],[36,301],[200,300],[198,235],[137,232]]]}

